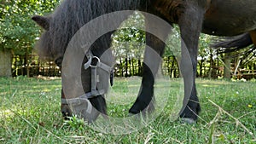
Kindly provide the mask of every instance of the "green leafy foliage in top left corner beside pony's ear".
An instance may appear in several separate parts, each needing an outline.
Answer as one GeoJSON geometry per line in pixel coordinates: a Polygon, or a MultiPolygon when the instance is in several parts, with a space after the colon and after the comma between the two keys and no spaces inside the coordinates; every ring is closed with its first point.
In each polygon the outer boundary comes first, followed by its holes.
{"type": "Polygon", "coordinates": [[[40,33],[40,28],[31,20],[32,15],[49,13],[59,0],[3,0],[0,3],[0,50],[25,55],[32,51],[40,33]]]}

